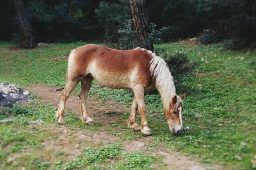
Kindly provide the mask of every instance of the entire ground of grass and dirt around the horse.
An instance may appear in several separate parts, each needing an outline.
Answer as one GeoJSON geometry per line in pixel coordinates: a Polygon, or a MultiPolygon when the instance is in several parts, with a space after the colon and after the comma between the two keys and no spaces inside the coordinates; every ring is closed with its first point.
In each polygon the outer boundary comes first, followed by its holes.
{"type": "MultiPolygon", "coordinates": [[[[68,99],[65,125],[54,118],[65,85],[67,56],[79,43],[49,44],[33,50],[0,43],[0,82],[22,86],[32,102],[15,105],[0,120],[0,169],[253,169],[255,147],[255,55],[221,44],[166,43],[156,51],[177,50],[198,62],[195,75],[177,85],[186,93],[185,127],[172,135],[157,94],[146,92],[152,136],[127,128],[132,93],[93,82],[88,109],[95,125],[80,118],[79,86],[68,99]]],[[[139,118],[140,116],[138,116],[139,118]]]]}

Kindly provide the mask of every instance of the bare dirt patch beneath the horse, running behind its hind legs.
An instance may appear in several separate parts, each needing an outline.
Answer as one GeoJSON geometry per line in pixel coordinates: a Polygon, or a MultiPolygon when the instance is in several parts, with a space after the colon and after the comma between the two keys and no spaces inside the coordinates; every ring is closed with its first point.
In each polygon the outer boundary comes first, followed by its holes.
{"type": "MultiPolygon", "coordinates": [[[[35,84],[27,87],[26,89],[38,96],[42,102],[56,105],[56,108],[58,107],[61,98],[61,91],[56,91],[58,87],[35,84]]],[[[89,115],[92,116],[93,120],[100,120],[102,123],[114,123],[116,120],[121,118],[124,112],[130,110],[125,105],[116,105],[112,100],[102,102],[97,100],[95,97],[88,97],[86,105],[88,107],[89,115]]],[[[69,110],[74,112],[77,116],[80,116],[81,111],[79,98],[74,95],[70,95],[65,108],[66,111],[69,110]]]]}

